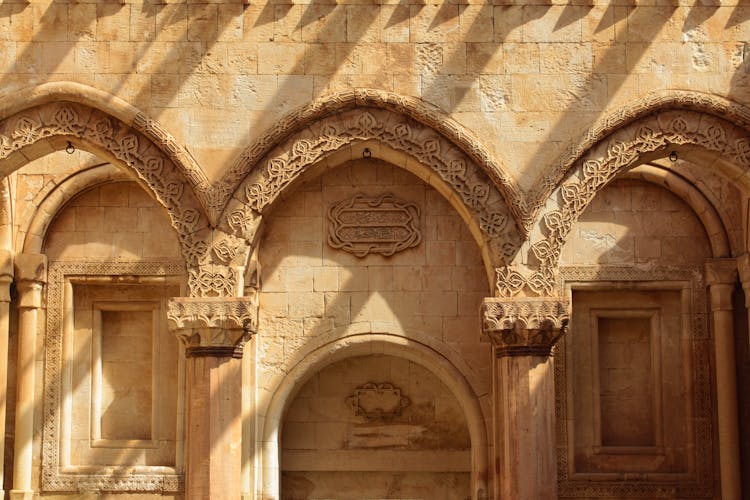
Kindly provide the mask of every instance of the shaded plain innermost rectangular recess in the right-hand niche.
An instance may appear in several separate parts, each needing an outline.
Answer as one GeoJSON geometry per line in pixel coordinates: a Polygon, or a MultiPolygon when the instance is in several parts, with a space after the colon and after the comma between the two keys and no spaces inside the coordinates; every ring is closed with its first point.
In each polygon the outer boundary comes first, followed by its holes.
{"type": "Polygon", "coordinates": [[[654,446],[651,321],[598,318],[602,446],[654,446]]]}

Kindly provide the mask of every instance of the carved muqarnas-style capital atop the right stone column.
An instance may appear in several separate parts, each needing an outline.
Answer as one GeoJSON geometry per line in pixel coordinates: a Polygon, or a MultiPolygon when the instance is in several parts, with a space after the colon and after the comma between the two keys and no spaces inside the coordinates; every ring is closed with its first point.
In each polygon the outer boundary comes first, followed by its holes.
{"type": "Polygon", "coordinates": [[[568,327],[568,304],[557,299],[487,298],[482,330],[495,356],[549,356],[568,327]]]}

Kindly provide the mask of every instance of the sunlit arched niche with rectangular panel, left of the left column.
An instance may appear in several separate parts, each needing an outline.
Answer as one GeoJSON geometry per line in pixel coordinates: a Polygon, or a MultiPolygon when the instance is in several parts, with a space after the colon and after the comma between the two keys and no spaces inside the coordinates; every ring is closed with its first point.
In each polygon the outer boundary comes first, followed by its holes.
{"type": "Polygon", "coordinates": [[[41,489],[179,491],[184,356],[166,308],[186,273],[167,211],[105,165],[46,193],[29,227],[25,249],[49,259],[41,489]]]}

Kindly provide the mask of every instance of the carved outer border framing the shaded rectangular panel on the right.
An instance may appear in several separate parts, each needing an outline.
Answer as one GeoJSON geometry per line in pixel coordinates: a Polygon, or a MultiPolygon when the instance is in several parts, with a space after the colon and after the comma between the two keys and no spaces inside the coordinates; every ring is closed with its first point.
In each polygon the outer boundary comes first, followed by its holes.
{"type": "MultiPolygon", "coordinates": [[[[691,292],[691,355],[693,358],[693,432],[695,433],[694,474],[691,478],[676,477],[673,481],[643,479],[592,481],[571,479],[568,475],[568,398],[566,377],[566,344],[555,350],[555,425],[557,433],[557,489],[560,498],[713,498],[713,412],[711,403],[711,363],[713,351],[707,311],[706,283],[701,266],[654,266],[636,269],[624,266],[562,267],[563,289],[570,282],[674,282],[690,283],[691,292]]],[[[575,334],[575,333],[572,333],[575,334]]],[[[677,475],[676,475],[677,476],[677,475]]]]}

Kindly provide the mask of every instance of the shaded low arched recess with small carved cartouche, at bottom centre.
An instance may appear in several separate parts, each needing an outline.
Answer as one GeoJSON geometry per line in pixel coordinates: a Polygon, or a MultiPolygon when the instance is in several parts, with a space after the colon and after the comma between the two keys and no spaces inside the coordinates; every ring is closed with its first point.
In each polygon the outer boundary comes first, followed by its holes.
{"type": "Polygon", "coordinates": [[[312,373],[288,405],[281,498],[467,498],[464,410],[421,363],[346,358],[312,373]]]}

